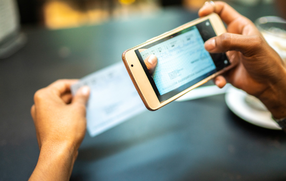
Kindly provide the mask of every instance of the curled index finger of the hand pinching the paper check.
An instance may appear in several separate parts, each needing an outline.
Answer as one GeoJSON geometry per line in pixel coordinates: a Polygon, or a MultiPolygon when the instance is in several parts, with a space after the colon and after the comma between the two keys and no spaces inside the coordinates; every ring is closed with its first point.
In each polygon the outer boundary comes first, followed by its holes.
{"type": "Polygon", "coordinates": [[[48,89],[51,89],[56,95],[60,96],[67,91],[71,91],[71,85],[78,82],[78,79],[61,79],[53,82],[48,89]]]}

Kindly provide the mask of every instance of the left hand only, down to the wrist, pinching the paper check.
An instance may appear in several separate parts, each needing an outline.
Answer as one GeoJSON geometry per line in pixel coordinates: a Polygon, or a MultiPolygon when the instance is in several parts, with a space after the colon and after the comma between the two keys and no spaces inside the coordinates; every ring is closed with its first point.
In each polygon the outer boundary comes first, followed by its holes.
{"type": "Polygon", "coordinates": [[[39,148],[44,144],[68,144],[75,151],[85,135],[85,104],[89,88],[81,88],[72,97],[70,86],[77,80],[58,80],[37,91],[31,108],[39,148]]]}

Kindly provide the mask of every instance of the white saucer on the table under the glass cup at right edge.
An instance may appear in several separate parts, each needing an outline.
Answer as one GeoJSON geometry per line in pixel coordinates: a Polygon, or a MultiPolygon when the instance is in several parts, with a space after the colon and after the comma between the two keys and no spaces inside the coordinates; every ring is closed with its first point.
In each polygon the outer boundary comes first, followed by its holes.
{"type": "Polygon", "coordinates": [[[245,102],[246,92],[229,87],[226,92],[225,100],[232,112],[245,121],[273,130],[281,130],[279,125],[272,119],[271,113],[268,111],[257,110],[245,102]]]}

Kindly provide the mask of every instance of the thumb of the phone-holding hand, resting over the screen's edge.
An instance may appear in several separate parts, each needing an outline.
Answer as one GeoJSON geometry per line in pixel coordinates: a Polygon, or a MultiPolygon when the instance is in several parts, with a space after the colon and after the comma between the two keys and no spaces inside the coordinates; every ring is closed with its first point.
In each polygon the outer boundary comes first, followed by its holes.
{"type": "Polygon", "coordinates": [[[263,38],[258,35],[246,36],[224,33],[205,42],[205,48],[210,53],[240,51],[244,56],[257,54],[263,44],[263,38]]]}

